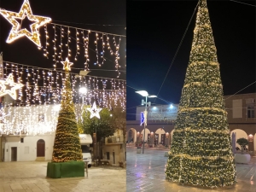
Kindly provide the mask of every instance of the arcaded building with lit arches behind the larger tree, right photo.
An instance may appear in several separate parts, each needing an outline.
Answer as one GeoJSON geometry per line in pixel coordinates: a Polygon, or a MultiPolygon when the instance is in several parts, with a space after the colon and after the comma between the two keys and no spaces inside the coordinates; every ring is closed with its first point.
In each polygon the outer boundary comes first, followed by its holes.
{"type": "MultiPolygon", "coordinates": [[[[249,141],[248,150],[256,151],[256,116],[255,100],[256,93],[239,94],[235,96],[224,96],[226,111],[228,112],[228,123],[230,136],[236,133],[236,140],[245,137],[249,141]]],[[[148,146],[169,146],[172,140],[175,119],[177,118],[178,105],[159,105],[148,107],[148,124],[140,125],[141,112],[144,107],[138,107],[136,120],[126,123],[126,143],[139,145],[144,142],[148,146]]],[[[236,143],[236,147],[241,147],[236,143]]]]}

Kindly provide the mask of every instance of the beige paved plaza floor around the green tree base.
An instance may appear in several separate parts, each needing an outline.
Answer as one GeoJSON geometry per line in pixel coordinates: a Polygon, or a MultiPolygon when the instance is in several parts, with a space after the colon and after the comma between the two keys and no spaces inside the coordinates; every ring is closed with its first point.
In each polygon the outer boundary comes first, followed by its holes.
{"type": "Polygon", "coordinates": [[[90,167],[88,176],[46,178],[47,162],[0,162],[0,192],[125,192],[126,172],[121,168],[90,167]]]}

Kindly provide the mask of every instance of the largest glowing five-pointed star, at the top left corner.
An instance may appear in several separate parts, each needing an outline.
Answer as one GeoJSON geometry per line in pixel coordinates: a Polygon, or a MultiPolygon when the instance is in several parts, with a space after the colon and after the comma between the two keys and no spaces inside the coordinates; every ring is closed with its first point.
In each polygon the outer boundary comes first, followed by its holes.
{"type": "Polygon", "coordinates": [[[32,40],[34,44],[37,44],[38,47],[41,47],[38,28],[49,23],[51,19],[49,17],[32,15],[32,9],[28,0],[24,0],[19,13],[0,9],[0,14],[13,26],[9,32],[9,37],[6,40],[7,43],[12,43],[17,38],[26,36],[32,40]],[[22,22],[26,17],[28,20],[34,21],[34,23],[30,25],[31,32],[28,32],[26,28],[20,29],[20,23],[17,21],[17,19],[19,19],[22,22]]]}

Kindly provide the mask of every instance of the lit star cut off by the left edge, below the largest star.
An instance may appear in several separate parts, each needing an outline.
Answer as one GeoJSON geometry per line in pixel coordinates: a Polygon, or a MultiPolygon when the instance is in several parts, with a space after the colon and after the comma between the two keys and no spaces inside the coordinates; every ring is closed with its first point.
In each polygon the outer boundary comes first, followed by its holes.
{"type": "Polygon", "coordinates": [[[17,100],[16,90],[20,90],[24,84],[16,84],[14,82],[14,76],[12,73],[9,73],[9,76],[5,80],[0,80],[0,96],[5,96],[9,94],[13,99],[17,100]],[[9,84],[12,87],[10,90],[6,89],[6,84],[9,84]]]}

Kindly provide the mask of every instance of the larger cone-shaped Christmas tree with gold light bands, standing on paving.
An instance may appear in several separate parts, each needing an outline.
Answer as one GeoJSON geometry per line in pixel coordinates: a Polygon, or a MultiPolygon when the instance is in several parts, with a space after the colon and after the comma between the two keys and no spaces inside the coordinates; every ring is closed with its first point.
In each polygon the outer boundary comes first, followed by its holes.
{"type": "Polygon", "coordinates": [[[203,187],[236,183],[217,50],[207,0],[200,0],[166,179],[203,187]]]}

